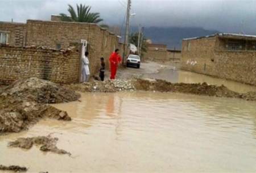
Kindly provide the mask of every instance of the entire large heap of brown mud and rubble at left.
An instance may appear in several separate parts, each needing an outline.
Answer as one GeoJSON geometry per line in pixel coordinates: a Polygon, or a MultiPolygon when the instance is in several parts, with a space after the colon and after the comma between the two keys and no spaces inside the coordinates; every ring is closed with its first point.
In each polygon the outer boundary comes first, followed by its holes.
{"type": "Polygon", "coordinates": [[[67,112],[48,104],[75,101],[75,91],[37,78],[20,80],[0,90],[0,134],[20,132],[44,117],[70,121],[67,112]]]}

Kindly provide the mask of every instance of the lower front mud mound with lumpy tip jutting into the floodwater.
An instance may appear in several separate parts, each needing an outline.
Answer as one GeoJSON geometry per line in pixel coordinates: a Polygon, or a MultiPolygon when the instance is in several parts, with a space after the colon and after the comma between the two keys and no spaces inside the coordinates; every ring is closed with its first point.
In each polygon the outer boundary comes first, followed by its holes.
{"type": "Polygon", "coordinates": [[[52,106],[13,98],[13,96],[0,95],[0,134],[3,132],[20,132],[44,117],[71,120],[67,112],[52,106]]]}

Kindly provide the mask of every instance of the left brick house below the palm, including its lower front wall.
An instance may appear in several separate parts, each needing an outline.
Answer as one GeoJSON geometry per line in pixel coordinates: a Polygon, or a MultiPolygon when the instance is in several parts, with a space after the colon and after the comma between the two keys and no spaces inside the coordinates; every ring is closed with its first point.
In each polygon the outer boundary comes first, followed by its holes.
{"type": "Polygon", "coordinates": [[[84,49],[90,53],[91,72],[97,73],[100,57],[106,58],[108,66],[110,53],[122,47],[118,40],[114,33],[93,23],[0,22],[0,82],[32,76],[59,83],[78,82],[84,49]]]}

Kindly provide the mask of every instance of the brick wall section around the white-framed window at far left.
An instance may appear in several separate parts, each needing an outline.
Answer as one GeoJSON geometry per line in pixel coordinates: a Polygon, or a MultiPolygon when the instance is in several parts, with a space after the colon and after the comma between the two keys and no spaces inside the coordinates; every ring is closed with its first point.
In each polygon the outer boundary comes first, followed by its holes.
{"type": "Polygon", "coordinates": [[[25,44],[26,24],[0,22],[0,31],[8,34],[8,43],[10,45],[22,47],[25,44]]]}

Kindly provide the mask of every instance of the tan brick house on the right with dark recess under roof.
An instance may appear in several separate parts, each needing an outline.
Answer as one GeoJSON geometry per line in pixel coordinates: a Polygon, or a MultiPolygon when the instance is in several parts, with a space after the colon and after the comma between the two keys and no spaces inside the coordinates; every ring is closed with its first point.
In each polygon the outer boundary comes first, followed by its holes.
{"type": "Polygon", "coordinates": [[[217,33],[183,39],[181,68],[256,85],[256,36],[217,33]]]}

